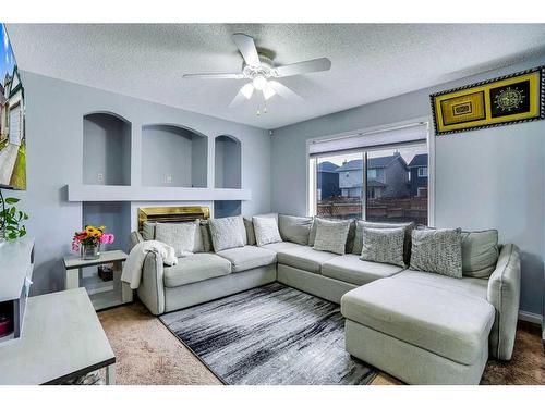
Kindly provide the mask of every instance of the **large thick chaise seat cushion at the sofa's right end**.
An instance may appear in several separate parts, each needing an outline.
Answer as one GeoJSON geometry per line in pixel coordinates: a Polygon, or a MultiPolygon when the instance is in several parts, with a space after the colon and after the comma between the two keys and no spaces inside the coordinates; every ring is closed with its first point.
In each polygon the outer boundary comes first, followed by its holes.
{"type": "Polygon", "coordinates": [[[372,282],[341,298],[347,318],[462,364],[482,356],[494,323],[484,299],[398,279],[372,282]]]}

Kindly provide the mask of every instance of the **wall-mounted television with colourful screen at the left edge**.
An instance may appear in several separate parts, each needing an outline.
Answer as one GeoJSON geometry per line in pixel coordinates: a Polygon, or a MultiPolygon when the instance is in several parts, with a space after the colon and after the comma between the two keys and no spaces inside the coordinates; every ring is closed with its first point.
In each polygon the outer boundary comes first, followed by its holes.
{"type": "Polygon", "coordinates": [[[0,23],[0,188],[26,189],[25,92],[0,23]]]}

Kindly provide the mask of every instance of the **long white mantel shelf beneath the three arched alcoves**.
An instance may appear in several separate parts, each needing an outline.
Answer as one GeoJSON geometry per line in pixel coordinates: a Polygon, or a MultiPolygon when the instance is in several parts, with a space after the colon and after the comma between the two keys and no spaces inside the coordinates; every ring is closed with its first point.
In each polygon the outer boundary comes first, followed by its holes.
{"type": "Polygon", "coordinates": [[[135,187],[69,184],[69,201],[229,201],[250,200],[240,188],[135,187]]]}

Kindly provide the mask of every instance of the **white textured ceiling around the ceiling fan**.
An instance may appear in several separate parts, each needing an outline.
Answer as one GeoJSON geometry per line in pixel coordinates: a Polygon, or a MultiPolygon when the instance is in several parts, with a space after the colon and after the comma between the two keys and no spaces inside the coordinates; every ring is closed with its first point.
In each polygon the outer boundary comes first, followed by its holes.
{"type": "Polygon", "coordinates": [[[9,24],[22,70],[190,111],[277,128],[517,62],[545,51],[545,24],[9,24]],[[327,57],[329,72],[280,79],[303,98],[275,96],[268,112],[228,108],[239,72],[231,34],[276,52],[277,64],[327,57]]]}

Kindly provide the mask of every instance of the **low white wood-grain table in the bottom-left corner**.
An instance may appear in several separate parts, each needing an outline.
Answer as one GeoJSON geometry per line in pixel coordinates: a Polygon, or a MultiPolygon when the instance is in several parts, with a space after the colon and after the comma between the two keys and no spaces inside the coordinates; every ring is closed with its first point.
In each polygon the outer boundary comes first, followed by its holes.
{"type": "Polygon", "coordinates": [[[60,384],[107,368],[116,356],[84,288],[28,298],[24,333],[0,347],[0,384],[60,384]]]}

